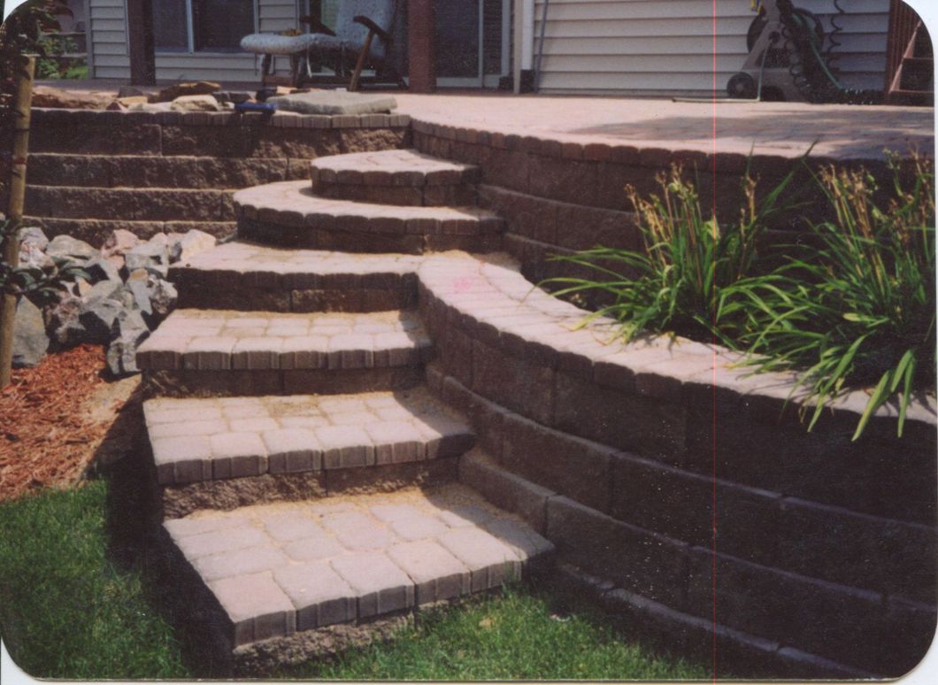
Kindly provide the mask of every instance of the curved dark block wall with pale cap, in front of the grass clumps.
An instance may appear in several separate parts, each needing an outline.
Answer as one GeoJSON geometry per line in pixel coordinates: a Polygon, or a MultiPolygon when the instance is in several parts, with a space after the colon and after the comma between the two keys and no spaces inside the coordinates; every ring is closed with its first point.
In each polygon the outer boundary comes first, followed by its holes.
{"type": "Polygon", "coordinates": [[[582,311],[495,260],[418,272],[431,388],[497,460],[462,464],[464,479],[625,596],[693,623],[712,620],[716,587],[720,630],[802,655],[794,677],[919,661],[935,625],[932,405],[902,439],[883,409],[853,443],[855,393],[807,434],[790,378],[748,377],[696,342],[571,330],[582,311]]]}

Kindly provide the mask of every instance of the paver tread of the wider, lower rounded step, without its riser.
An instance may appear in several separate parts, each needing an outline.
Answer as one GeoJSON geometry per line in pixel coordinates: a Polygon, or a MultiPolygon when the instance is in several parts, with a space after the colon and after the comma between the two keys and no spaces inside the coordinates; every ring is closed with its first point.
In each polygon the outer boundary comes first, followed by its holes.
{"type": "Polygon", "coordinates": [[[283,181],[234,193],[234,204],[250,220],[294,228],[326,228],[382,234],[476,235],[498,233],[504,221],[476,206],[376,205],[318,197],[308,181],[283,181]]]}

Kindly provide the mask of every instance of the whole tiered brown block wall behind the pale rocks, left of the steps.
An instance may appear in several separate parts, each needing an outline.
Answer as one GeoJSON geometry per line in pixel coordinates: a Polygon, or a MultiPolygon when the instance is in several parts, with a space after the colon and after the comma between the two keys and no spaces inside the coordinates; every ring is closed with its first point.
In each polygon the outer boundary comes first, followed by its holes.
{"type": "Polygon", "coordinates": [[[410,145],[406,114],[34,109],[26,215],[99,245],[199,228],[234,233],[234,190],[310,177],[324,155],[410,145]]]}

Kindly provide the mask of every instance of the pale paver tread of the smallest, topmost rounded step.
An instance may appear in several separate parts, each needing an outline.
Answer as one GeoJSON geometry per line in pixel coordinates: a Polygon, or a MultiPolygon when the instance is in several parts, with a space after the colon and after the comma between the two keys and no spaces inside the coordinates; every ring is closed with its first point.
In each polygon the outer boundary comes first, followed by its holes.
{"type": "Polygon", "coordinates": [[[441,160],[414,149],[356,152],[310,162],[313,183],[376,186],[436,186],[477,183],[479,169],[441,160]]]}

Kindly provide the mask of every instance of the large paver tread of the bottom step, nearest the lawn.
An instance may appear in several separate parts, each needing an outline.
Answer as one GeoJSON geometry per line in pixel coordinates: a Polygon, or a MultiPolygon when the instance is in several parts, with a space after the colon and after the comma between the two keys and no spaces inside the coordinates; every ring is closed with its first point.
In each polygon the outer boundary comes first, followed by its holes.
{"type": "Polygon", "coordinates": [[[218,601],[233,647],[497,588],[553,552],[457,484],[196,512],[163,527],[218,601]]]}

